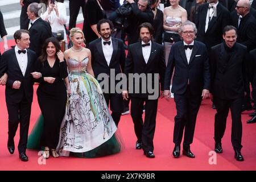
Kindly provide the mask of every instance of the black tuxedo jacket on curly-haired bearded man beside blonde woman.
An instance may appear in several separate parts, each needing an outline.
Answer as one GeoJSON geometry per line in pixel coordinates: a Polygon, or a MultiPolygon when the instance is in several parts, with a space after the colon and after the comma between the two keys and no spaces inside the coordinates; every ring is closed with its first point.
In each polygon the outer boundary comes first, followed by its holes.
{"type": "Polygon", "coordinates": [[[110,75],[110,69],[115,70],[115,75],[122,73],[123,68],[125,67],[125,48],[123,47],[122,40],[112,38],[113,53],[109,65],[104,56],[101,40],[102,39],[99,38],[89,44],[89,49],[92,53],[92,68],[95,77],[97,78],[100,73],[110,75]]]}

